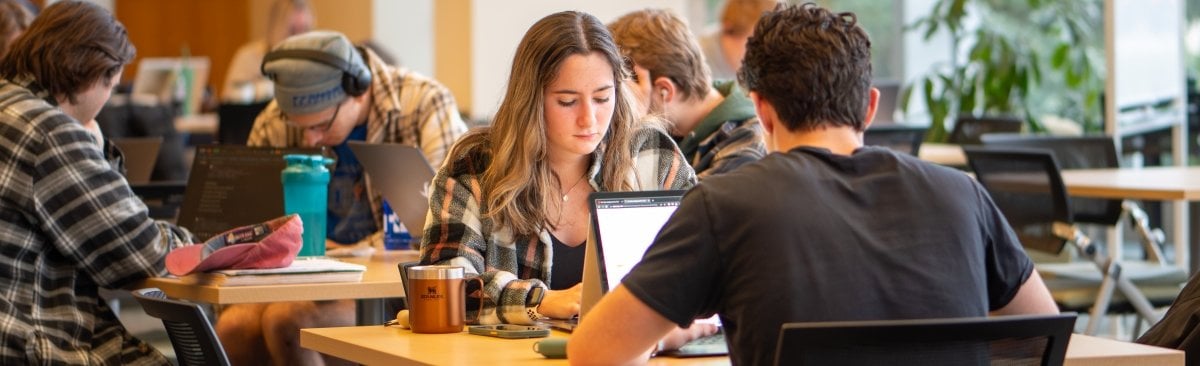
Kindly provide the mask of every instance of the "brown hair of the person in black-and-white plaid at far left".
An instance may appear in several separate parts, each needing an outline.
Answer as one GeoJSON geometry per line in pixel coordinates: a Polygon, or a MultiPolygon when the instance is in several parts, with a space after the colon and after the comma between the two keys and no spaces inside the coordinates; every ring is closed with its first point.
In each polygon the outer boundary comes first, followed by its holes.
{"type": "Polygon", "coordinates": [[[125,25],[98,5],[64,0],[47,7],[0,61],[0,76],[32,77],[53,97],[76,102],[96,82],[109,85],[136,49],[125,25]]]}

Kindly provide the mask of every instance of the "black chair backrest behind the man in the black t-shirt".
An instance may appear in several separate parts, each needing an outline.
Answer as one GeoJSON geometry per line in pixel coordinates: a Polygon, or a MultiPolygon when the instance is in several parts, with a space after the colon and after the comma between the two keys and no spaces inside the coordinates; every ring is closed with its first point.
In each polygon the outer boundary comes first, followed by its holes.
{"type": "Polygon", "coordinates": [[[787,323],[775,365],[1062,365],[1075,314],[787,323]]]}

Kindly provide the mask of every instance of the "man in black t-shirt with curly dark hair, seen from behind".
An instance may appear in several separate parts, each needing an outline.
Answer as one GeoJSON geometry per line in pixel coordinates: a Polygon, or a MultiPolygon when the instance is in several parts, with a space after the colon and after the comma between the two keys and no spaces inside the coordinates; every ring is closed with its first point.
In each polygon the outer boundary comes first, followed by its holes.
{"type": "Polygon", "coordinates": [[[788,322],[1057,313],[979,184],[862,145],[878,91],[854,14],[782,6],[746,48],[739,78],[775,152],[684,197],[571,336],[572,364],[644,360],[710,332],[692,319],[714,312],[743,365],[770,364],[788,322]]]}

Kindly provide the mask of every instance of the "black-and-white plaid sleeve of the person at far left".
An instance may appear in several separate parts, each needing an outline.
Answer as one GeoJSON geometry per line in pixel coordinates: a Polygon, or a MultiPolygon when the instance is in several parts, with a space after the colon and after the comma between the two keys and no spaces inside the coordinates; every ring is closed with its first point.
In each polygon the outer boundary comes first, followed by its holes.
{"type": "Polygon", "coordinates": [[[104,161],[82,126],[47,124],[34,161],[34,212],[58,252],[106,288],[157,276],[168,251],[192,240],[149,218],[145,205],[104,161]],[[167,229],[167,232],[163,232],[167,229]]]}

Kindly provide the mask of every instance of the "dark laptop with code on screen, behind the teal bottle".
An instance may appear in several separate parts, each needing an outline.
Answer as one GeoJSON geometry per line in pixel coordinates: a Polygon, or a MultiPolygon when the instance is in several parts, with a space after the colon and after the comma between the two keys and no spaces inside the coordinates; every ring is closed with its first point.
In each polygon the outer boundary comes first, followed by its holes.
{"type": "Polygon", "coordinates": [[[176,223],[208,240],[224,230],[283,216],[283,155],[316,148],[199,145],[176,223]]]}

